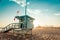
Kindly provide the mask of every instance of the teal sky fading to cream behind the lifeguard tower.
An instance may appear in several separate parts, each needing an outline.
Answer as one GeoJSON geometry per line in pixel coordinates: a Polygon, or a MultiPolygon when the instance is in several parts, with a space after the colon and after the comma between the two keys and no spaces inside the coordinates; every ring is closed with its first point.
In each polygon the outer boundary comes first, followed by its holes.
{"type": "MultiPolygon", "coordinates": [[[[39,25],[60,26],[60,0],[27,0],[27,2],[27,15],[39,21],[39,25]]],[[[17,15],[25,15],[22,4],[14,0],[0,0],[0,27],[18,22],[17,19],[14,21],[17,15]]]]}

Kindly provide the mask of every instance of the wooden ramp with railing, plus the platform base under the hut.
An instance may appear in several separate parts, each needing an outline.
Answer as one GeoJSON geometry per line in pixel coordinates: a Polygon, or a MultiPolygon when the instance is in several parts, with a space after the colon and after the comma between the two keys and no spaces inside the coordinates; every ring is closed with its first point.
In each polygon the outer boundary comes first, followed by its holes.
{"type": "Polygon", "coordinates": [[[0,32],[8,32],[10,30],[14,30],[15,32],[19,31],[19,32],[25,32],[25,33],[27,33],[27,32],[29,32],[29,31],[32,30],[31,28],[30,29],[29,28],[20,28],[20,24],[21,23],[11,23],[11,24],[5,26],[4,28],[2,28],[0,30],[0,32]]]}

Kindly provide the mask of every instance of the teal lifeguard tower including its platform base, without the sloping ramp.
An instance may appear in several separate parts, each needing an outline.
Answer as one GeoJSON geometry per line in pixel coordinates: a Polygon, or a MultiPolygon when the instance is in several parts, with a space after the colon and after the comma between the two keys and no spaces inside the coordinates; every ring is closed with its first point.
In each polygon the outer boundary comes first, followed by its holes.
{"type": "Polygon", "coordinates": [[[27,33],[31,31],[34,27],[33,20],[34,18],[24,15],[24,16],[15,16],[19,20],[18,26],[14,26],[14,32],[16,33],[27,33]],[[25,18],[26,17],[26,18],[25,18]]]}

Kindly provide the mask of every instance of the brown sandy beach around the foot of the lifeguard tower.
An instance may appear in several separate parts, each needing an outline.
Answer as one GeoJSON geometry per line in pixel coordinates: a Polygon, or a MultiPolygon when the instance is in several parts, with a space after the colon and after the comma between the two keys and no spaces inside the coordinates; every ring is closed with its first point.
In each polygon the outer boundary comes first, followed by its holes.
{"type": "Polygon", "coordinates": [[[0,40],[60,40],[60,29],[37,28],[32,30],[31,37],[23,37],[20,34],[0,33],[0,40]],[[31,39],[32,38],[32,39],[31,39]]]}

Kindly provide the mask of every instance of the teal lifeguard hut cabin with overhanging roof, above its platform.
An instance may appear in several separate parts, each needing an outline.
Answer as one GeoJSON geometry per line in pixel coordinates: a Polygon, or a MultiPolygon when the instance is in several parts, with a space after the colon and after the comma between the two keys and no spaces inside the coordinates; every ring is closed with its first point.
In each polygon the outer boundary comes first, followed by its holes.
{"type": "Polygon", "coordinates": [[[25,15],[25,16],[15,16],[15,18],[17,18],[19,20],[19,23],[21,23],[19,25],[19,28],[21,29],[32,29],[33,28],[33,20],[34,18],[25,15]],[[25,17],[26,17],[26,21],[25,21],[25,17]]]}

